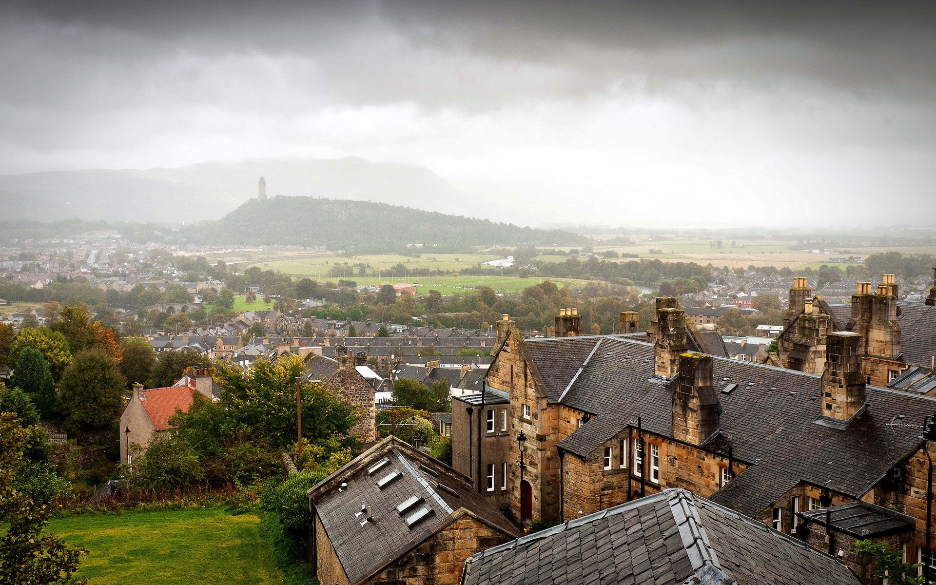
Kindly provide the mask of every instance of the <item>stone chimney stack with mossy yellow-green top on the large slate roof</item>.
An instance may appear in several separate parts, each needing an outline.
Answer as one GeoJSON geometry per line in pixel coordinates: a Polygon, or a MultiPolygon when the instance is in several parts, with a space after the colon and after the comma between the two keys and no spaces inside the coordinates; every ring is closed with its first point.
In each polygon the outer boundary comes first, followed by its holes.
{"type": "Polygon", "coordinates": [[[711,387],[711,356],[680,355],[680,377],[673,393],[673,438],[700,445],[719,429],[718,397],[711,387]]]}

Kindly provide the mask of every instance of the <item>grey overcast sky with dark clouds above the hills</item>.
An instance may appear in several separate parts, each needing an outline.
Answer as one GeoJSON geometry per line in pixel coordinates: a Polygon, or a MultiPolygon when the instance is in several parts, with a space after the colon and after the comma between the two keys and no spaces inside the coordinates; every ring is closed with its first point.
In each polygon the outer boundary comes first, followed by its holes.
{"type": "Polygon", "coordinates": [[[7,0],[0,80],[0,173],[355,155],[521,225],[936,223],[928,0],[7,0]]]}

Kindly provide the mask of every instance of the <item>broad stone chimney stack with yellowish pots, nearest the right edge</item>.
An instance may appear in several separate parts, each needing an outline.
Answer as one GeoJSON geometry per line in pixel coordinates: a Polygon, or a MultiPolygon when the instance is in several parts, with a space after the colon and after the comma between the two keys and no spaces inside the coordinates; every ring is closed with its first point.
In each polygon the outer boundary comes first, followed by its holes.
{"type": "MultiPolygon", "coordinates": [[[[862,355],[885,359],[899,355],[897,292],[898,285],[894,282],[893,274],[885,274],[884,283],[878,286],[877,294],[871,293],[870,283],[858,283],[857,294],[852,295],[852,320],[846,329],[861,335],[862,355]]],[[[887,381],[873,382],[886,384],[887,381]]]]}

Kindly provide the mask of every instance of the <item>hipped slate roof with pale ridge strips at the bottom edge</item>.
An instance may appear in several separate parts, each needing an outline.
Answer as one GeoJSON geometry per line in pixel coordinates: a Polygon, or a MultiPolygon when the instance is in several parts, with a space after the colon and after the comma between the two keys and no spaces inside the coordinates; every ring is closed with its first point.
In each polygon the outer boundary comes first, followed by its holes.
{"type": "Polygon", "coordinates": [[[475,554],[462,585],[858,585],[843,563],[686,490],[522,536],[475,554]]]}

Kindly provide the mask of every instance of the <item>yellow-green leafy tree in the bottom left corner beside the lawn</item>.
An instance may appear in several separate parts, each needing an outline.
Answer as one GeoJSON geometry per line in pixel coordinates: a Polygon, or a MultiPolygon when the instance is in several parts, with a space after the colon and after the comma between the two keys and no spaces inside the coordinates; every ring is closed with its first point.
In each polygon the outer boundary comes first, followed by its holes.
{"type": "Polygon", "coordinates": [[[73,574],[87,550],[46,533],[50,502],[22,486],[29,464],[23,456],[37,432],[37,427],[23,427],[14,413],[0,414],[0,523],[7,527],[0,536],[0,585],[79,585],[84,579],[73,574]]]}

